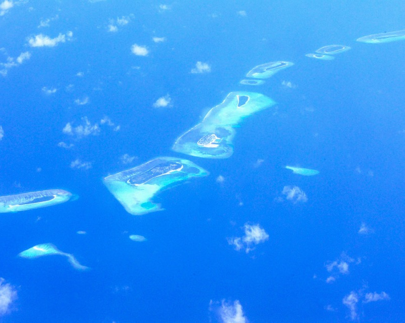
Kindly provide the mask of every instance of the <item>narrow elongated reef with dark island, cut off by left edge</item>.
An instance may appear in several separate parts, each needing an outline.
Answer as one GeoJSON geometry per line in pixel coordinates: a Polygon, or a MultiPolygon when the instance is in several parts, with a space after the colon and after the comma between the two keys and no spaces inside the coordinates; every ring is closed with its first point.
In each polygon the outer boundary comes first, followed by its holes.
{"type": "Polygon", "coordinates": [[[0,213],[26,211],[64,203],[72,193],[63,189],[47,189],[15,195],[0,196],[0,213]]]}

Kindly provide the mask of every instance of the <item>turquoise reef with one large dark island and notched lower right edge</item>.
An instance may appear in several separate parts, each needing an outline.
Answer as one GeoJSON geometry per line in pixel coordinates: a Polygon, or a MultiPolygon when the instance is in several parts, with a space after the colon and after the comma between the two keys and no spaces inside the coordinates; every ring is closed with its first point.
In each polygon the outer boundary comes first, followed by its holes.
{"type": "Polygon", "coordinates": [[[133,215],[164,210],[151,201],[158,191],[191,177],[209,173],[187,159],[158,157],[145,164],[104,178],[104,184],[133,215]]]}

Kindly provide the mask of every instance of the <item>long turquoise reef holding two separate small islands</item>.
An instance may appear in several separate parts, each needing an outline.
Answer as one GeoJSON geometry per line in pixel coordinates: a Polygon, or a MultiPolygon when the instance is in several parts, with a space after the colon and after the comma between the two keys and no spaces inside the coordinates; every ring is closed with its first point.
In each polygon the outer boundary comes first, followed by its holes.
{"type": "Polygon", "coordinates": [[[203,121],[181,135],[172,149],[196,157],[228,158],[233,153],[234,128],[247,116],[274,104],[260,93],[231,92],[203,121]]]}

